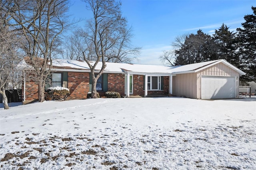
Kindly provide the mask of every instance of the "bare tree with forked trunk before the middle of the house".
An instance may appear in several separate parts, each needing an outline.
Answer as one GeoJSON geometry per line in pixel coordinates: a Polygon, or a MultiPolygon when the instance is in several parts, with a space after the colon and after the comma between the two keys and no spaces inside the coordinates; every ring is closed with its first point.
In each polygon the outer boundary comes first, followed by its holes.
{"type": "Polygon", "coordinates": [[[130,62],[139,53],[140,48],[130,45],[131,29],[126,18],[122,17],[120,2],[115,0],[84,0],[93,18],[86,23],[86,29],[80,32],[84,36],[86,47],[82,54],[92,75],[92,98],[97,98],[96,83],[106,68],[106,61],[130,62]],[[91,65],[90,60],[94,60],[91,65]],[[95,74],[96,65],[102,62],[102,67],[95,74]]]}

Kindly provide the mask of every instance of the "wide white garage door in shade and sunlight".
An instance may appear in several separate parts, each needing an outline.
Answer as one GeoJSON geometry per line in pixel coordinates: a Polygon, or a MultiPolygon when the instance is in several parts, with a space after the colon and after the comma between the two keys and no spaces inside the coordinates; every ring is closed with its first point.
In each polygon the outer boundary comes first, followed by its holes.
{"type": "Polygon", "coordinates": [[[235,97],[235,77],[203,76],[202,99],[224,99],[235,97]]]}

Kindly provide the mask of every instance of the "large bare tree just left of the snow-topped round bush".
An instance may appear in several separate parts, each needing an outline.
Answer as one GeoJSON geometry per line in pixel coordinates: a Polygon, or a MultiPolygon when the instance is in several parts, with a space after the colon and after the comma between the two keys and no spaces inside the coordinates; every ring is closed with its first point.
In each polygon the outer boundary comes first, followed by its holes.
{"type": "Polygon", "coordinates": [[[58,50],[58,38],[66,26],[68,0],[6,0],[13,25],[26,37],[27,61],[33,69],[27,73],[38,84],[39,102],[44,101],[44,88],[51,73],[52,56],[58,50]]]}

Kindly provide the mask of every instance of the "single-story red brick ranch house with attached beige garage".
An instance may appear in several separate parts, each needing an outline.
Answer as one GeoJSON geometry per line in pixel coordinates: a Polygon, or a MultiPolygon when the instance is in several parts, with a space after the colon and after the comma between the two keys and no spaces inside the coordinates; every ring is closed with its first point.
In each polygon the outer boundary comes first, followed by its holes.
{"type": "MultiPolygon", "coordinates": [[[[98,63],[96,73],[100,71],[101,64],[98,63]]],[[[68,88],[68,99],[87,98],[92,79],[85,61],[55,59],[52,65],[52,87],[68,88]]],[[[93,61],[91,65],[94,65],[93,61]]],[[[106,65],[96,85],[101,96],[106,91],[116,91],[125,97],[169,95],[194,99],[236,98],[239,96],[239,76],[245,75],[224,59],[175,67],[127,63],[106,65]]],[[[24,101],[38,99],[37,91],[36,84],[24,80],[24,101]]]]}

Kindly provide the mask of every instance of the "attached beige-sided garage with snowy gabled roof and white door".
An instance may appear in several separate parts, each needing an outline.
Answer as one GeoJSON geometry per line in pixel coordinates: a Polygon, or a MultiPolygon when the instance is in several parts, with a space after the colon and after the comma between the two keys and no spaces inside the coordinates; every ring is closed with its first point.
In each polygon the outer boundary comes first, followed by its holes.
{"type": "Polygon", "coordinates": [[[224,59],[177,66],[172,69],[172,96],[226,99],[239,96],[243,71],[224,59]]]}

